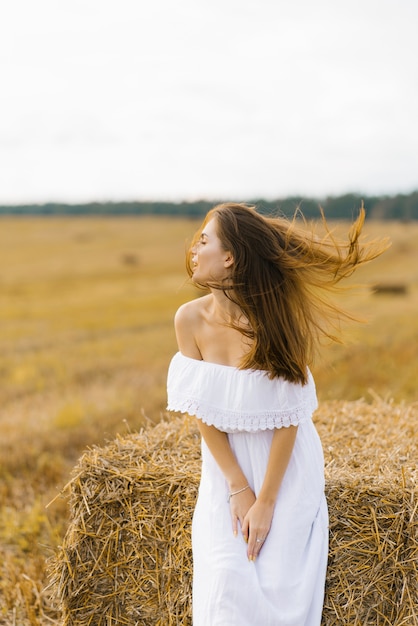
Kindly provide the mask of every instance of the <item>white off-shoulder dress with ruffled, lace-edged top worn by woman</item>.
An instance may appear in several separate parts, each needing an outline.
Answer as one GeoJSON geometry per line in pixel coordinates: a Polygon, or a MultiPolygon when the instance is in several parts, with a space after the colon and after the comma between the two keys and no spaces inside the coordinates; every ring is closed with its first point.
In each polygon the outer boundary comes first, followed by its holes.
{"type": "Polygon", "coordinates": [[[275,428],[298,426],[272,526],[255,562],[234,537],[228,485],[202,440],[202,475],[193,516],[193,626],[320,626],[328,556],[328,509],[317,407],[306,385],[260,370],[198,361],[178,352],[167,380],[168,409],[228,433],[257,495],[275,428]]]}

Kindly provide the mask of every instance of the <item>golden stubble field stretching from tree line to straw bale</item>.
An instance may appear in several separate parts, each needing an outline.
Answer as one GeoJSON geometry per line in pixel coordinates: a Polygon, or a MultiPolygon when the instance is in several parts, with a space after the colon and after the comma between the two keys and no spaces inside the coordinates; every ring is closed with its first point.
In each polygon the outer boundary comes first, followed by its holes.
{"type": "MultiPolygon", "coordinates": [[[[58,623],[45,590],[67,523],[57,494],[87,446],[164,414],[173,315],[197,295],[184,271],[197,225],[0,220],[0,624],[58,623]]],[[[355,275],[367,287],[344,296],[368,323],[322,350],[319,399],[416,402],[418,224],[370,222],[366,233],[392,247],[355,275]],[[375,295],[372,284],[405,293],[375,295]]]]}

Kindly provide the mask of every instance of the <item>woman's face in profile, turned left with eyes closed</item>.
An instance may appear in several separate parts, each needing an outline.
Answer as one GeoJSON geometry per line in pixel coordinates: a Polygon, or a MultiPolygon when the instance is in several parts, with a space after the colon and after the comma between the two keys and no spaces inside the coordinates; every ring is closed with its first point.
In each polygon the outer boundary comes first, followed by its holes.
{"type": "Polygon", "coordinates": [[[216,233],[216,218],[213,217],[204,226],[191,253],[194,282],[201,285],[219,283],[228,277],[233,258],[230,252],[223,249],[216,233]]]}

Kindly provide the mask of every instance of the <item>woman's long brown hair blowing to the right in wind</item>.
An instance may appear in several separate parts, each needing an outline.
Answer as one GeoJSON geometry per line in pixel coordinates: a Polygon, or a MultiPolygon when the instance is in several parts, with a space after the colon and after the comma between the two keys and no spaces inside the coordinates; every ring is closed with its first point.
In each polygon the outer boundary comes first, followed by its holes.
{"type": "MultiPolygon", "coordinates": [[[[307,367],[317,345],[326,337],[339,341],[335,329],[343,318],[353,316],[329,297],[341,279],[379,256],[388,243],[360,243],[365,219],[361,207],[352,224],[348,241],[337,241],[322,214],[325,235],[298,227],[292,220],[265,217],[253,206],[226,203],[207,214],[192,246],[211,218],[216,218],[217,235],[224,250],[234,258],[226,282],[198,285],[222,289],[238,305],[248,324],[239,320],[232,327],[249,339],[242,369],[262,369],[272,378],[307,382],[307,367]]],[[[192,276],[192,255],[186,266],[192,276]]]]}

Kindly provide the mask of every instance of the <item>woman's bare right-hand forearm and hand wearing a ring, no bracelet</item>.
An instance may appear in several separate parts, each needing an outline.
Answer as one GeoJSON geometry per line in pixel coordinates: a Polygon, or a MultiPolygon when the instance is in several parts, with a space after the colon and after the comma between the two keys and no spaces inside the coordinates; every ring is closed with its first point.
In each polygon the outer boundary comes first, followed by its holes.
{"type": "MultiPolygon", "coordinates": [[[[296,434],[297,426],[276,428],[274,431],[260,493],[242,525],[242,534],[248,541],[247,554],[250,561],[255,561],[270,531],[274,505],[292,455],[296,434]]],[[[280,515],[280,512],[278,514],[280,515]]]]}

